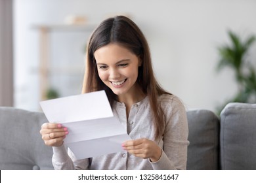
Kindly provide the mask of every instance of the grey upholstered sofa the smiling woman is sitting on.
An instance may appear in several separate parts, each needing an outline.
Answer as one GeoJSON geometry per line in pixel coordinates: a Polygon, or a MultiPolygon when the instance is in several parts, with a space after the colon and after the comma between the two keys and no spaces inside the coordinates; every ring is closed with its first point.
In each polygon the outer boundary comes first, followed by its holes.
{"type": "MultiPolygon", "coordinates": [[[[256,104],[229,103],[217,116],[187,110],[187,169],[256,169],[256,104]]],[[[53,150],[39,130],[42,112],[0,107],[0,169],[53,169],[53,150]]]]}

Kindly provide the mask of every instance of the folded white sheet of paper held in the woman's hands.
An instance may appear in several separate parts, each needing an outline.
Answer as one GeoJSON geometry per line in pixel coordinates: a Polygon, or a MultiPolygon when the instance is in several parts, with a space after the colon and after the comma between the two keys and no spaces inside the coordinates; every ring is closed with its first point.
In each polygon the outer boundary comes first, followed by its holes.
{"type": "Polygon", "coordinates": [[[105,91],[73,95],[40,102],[49,122],[68,127],[64,143],[77,159],[123,150],[131,140],[112,112],[105,91]]]}

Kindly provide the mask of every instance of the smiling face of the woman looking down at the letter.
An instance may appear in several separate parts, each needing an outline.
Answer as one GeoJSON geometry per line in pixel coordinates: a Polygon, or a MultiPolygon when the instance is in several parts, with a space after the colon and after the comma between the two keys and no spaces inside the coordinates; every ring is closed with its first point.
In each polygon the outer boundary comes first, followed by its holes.
{"type": "Polygon", "coordinates": [[[139,58],[127,48],[110,43],[95,51],[98,75],[116,95],[135,95],[139,58]]]}

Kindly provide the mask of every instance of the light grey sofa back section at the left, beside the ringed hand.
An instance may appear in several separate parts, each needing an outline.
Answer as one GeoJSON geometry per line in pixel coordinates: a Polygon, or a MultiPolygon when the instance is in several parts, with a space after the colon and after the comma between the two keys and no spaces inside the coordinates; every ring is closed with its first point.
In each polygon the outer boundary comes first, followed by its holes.
{"type": "Polygon", "coordinates": [[[0,169],[53,169],[53,150],[39,130],[47,122],[42,112],[0,107],[0,169]]]}

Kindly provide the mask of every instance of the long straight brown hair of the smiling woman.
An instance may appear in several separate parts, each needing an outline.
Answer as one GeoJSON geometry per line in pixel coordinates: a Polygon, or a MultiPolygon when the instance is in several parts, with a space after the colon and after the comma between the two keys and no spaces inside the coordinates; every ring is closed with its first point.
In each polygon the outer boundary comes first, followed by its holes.
{"type": "Polygon", "coordinates": [[[105,90],[110,105],[117,100],[117,95],[100,80],[94,56],[98,48],[110,43],[125,46],[142,61],[142,65],[139,67],[137,82],[150,101],[150,108],[154,118],[153,124],[156,129],[154,137],[155,139],[161,137],[165,127],[165,116],[160,104],[157,102],[158,96],[170,93],[165,92],[156,81],[152,69],[148,42],[139,27],[129,18],[115,16],[114,18],[104,20],[96,27],[87,44],[86,70],[82,93],[105,90]]]}

